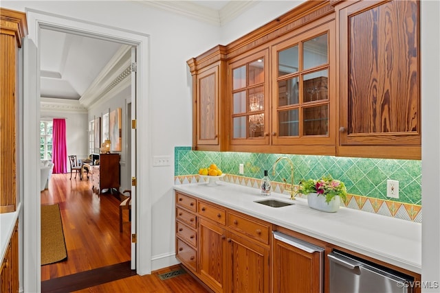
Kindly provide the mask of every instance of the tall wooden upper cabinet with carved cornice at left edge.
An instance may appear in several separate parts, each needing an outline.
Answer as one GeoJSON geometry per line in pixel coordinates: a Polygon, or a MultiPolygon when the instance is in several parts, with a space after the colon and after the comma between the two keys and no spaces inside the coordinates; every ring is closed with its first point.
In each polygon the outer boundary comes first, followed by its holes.
{"type": "Polygon", "coordinates": [[[20,201],[16,165],[19,48],[27,34],[25,13],[0,8],[0,213],[15,211],[20,201]]]}

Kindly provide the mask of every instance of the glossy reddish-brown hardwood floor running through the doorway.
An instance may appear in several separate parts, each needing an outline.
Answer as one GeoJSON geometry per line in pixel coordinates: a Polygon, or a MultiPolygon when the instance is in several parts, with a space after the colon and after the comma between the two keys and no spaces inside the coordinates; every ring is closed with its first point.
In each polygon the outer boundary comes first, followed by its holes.
{"type": "Polygon", "coordinates": [[[41,204],[60,206],[67,248],[65,261],[41,266],[43,292],[72,292],[72,288],[76,292],[206,292],[190,274],[159,279],[159,274],[179,266],[147,276],[126,277],[133,274],[125,268],[131,258],[127,211],[120,233],[118,196],[97,196],[91,191],[90,180],[69,177],[70,174],[53,174],[49,189],[41,192],[41,204]],[[119,270],[120,274],[111,279],[109,270],[119,270]]]}

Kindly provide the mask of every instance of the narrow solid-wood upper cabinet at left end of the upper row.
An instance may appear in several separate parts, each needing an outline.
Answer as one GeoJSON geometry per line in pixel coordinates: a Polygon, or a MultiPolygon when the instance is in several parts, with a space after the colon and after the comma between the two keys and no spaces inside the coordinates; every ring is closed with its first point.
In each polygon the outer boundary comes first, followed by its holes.
{"type": "Polygon", "coordinates": [[[227,111],[224,99],[224,48],[217,46],[187,61],[192,75],[192,148],[194,150],[226,150],[227,111]]]}

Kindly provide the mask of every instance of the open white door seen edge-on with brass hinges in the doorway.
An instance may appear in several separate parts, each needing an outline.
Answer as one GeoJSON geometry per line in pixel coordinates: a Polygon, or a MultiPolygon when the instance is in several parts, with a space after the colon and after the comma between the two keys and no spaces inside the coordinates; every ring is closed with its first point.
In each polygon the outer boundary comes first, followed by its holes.
{"type": "MultiPolygon", "coordinates": [[[[131,48],[131,119],[136,120],[136,48],[131,48]]],[[[133,178],[136,178],[136,128],[131,124],[131,270],[136,269],[136,185],[133,178]]]]}

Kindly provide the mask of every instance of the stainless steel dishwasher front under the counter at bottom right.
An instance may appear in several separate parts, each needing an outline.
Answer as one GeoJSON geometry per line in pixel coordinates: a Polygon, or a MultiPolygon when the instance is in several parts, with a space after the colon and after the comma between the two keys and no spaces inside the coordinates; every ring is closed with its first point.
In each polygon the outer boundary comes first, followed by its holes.
{"type": "Polygon", "coordinates": [[[331,293],[401,293],[412,292],[412,277],[352,255],[333,251],[330,262],[331,293]]]}

